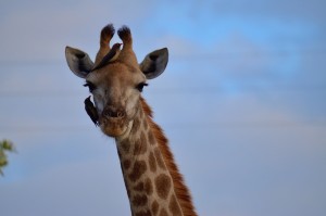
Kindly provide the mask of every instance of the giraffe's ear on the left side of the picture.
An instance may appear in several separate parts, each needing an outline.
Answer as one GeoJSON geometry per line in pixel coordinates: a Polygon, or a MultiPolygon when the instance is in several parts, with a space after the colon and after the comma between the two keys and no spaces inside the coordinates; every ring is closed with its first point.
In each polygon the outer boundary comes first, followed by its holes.
{"type": "Polygon", "coordinates": [[[80,78],[85,78],[93,67],[88,54],[75,48],[65,48],[65,59],[71,71],[80,78]]]}

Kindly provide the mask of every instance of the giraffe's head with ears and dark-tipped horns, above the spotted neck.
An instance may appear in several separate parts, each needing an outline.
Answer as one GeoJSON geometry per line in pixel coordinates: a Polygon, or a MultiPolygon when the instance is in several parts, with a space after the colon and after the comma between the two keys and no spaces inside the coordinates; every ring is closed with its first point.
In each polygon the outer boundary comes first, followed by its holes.
{"type": "Polygon", "coordinates": [[[115,43],[111,48],[114,31],[111,24],[102,29],[95,63],[86,52],[71,47],[66,47],[65,56],[71,71],[86,80],[101,130],[117,138],[130,129],[140,107],[142,88],[147,86],[147,79],[164,72],[168,52],[166,48],[155,50],[138,63],[129,28],[118,29],[123,45],[115,43]]]}

